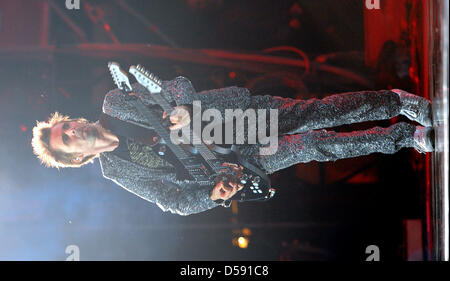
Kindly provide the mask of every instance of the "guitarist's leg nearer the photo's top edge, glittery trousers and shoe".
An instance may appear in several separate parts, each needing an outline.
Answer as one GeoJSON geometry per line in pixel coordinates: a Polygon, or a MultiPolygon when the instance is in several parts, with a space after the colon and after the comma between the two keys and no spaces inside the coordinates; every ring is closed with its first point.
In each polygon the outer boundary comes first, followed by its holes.
{"type": "MultiPolygon", "coordinates": [[[[400,95],[389,90],[347,92],[309,100],[270,95],[252,96],[250,108],[278,109],[278,133],[283,135],[391,119],[403,114],[407,106],[409,111],[418,112],[422,119],[431,114],[430,104],[426,99],[412,94],[400,95]],[[411,101],[418,102],[411,106],[411,101]]],[[[411,116],[408,118],[411,119],[411,116]]]]}

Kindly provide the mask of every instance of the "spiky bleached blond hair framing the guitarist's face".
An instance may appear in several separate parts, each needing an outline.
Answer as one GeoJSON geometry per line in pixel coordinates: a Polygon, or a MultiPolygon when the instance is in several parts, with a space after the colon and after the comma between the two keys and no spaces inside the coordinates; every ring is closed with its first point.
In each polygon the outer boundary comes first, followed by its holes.
{"type": "Polygon", "coordinates": [[[84,118],[70,119],[69,116],[62,115],[58,112],[54,112],[47,122],[36,120],[36,126],[33,128],[31,146],[33,147],[33,153],[46,167],[54,167],[57,169],[67,167],[79,168],[85,164],[93,163],[94,159],[99,156],[99,154],[88,155],[80,163],[75,164],[72,163],[72,159],[75,157],[73,153],[64,153],[50,148],[50,135],[53,126],[60,122],[71,121],[88,123],[84,118]]]}

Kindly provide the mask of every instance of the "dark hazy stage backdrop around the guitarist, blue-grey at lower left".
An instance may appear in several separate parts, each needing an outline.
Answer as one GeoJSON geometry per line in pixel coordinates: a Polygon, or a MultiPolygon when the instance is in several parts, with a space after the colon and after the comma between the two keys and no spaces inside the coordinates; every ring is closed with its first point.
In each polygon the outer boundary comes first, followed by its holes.
{"type": "MultiPolygon", "coordinates": [[[[187,217],[163,213],[104,179],[98,160],[59,171],[40,165],[30,146],[35,120],[59,111],[95,121],[114,85],[107,70],[110,59],[57,51],[72,50],[82,40],[54,8],[48,11],[45,47],[54,51],[34,48],[41,30],[33,22],[42,21],[46,2],[30,2],[0,4],[0,33],[11,31],[0,39],[0,259],[64,260],[68,245],[80,248],[82,260],[365,260],[369,245],[377,245],[384,260],[404,258],[403,220],[423,215],[424,167],[412,149],[299,164],[272,176],[277,194],[268,202],[238,204],[237,214],[219,207],[187,217]],[[232,243],[243,227],[251,230],[246,249],[232,243]]],[[[107,23],[122,44],[246,54],[290,46],[312,62],[310,73],[303,75],[301,68],[256,73],[139,53],[114,58],[124,67],[145,65],[164,80],[186,76],[197,91],[237,85],[255,95],[307,99],[405,83],[399,73],[387,71],[383,75],[392,75],[394,83],[380,82],[380,67],[365,65],[363,1],[125,2],[166,39],[116,1],[81,0],[80,10],[52,1],[83,31],[87,43],[111,44],[107,23]],[[103,22],[95,23],[86,6],[102,11],[103,22]],[[329,57],[325,61],[320,59],[324,55],[329,57]],[[317,71],[321,63],[357,73],[369,83],[317,71]]],[[[292,51],[273,54],[302,59],[292,51]]],[[[392,60],[388,53],[378,64],[383,68],[392,60]]]]}

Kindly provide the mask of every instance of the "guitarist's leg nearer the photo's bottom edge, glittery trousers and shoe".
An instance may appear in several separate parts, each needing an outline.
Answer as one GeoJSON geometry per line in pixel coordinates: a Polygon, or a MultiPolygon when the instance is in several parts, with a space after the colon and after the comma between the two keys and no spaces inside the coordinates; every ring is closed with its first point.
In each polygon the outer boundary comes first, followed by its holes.
{"type": "MultiPolygon", "coordinates": [[[[254,156],[259,166],[271,174],[297,163],[335,161],[375,152],[392,154],[403,147],[414,147],[419,150],[419,142],[429,137],[423,134],[429,132],[422,129],[431,130],[402,122],[389,128],[375,127],[348,133],[318,130],[284,135],[279,138],[275,154],[254,156]]],[[[423,150],[429,149],[430,147],[426,147],[423,150]]]]}

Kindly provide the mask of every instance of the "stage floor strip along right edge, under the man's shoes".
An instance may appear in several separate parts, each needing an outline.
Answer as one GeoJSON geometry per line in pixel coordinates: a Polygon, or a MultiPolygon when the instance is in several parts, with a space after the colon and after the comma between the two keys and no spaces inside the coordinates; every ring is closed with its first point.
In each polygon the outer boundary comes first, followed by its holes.
{"type": "Polygon", "coordinates": [[[435,152],[428,158],[427,225],[429,260],[449,260],[448,1],[431,6],[429,94],[433,102],[435,152]]]}

